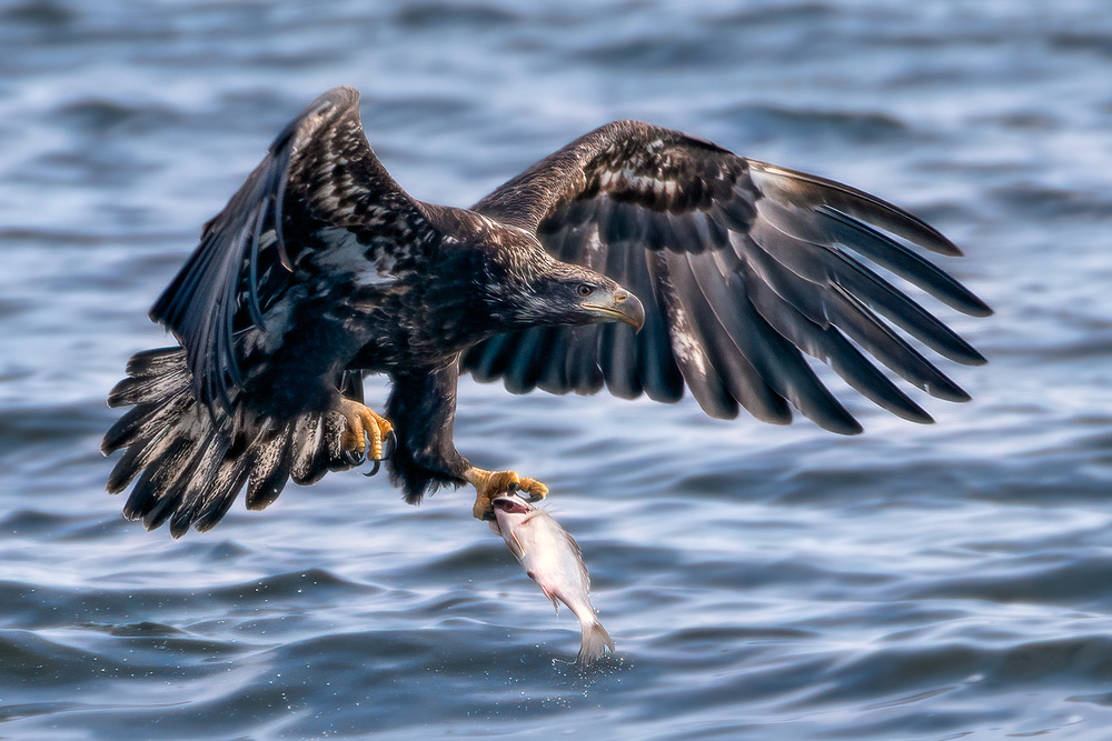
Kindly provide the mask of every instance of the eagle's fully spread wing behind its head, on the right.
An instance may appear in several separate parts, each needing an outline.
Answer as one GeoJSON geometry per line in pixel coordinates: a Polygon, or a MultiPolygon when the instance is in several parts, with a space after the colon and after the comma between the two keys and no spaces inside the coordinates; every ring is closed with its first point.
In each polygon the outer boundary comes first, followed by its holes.
{"type": "Polygon", "coordinates": [[[733,418],[741,405],[786,423],[791,402],[828,430],[854,433],[860,424],[804,353],[917,422],[931,418],[862,351],[951,401],[969,395],[892,324],[951,360],[984,362],[868,264],[959,311],[992,313],[909,247],[960,256],[935,229],[862,191],[677,131],[609,123],[474,209],[536,230],[554,257],[606,273],[646,310],[639,333],[623,324],[534,328],[465,356],[476,378],[500,377],[512,391],[594,393],[605,383],[619,397],[675,401],[686,383],[712,417],[733,418]]]}

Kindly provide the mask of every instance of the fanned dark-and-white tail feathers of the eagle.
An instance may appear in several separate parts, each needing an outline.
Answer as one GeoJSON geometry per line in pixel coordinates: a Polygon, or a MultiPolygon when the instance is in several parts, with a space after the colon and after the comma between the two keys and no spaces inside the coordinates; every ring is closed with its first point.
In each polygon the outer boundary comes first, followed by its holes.
{"type": "Polygon", "coordinates": [[[110,407],[132,407],[100,445],[106,455],[126,449],[109,474],[109,493],[139,478],[123,505],[128,519],[148,530],[169,521],[178,538],[190,525],[219,522],[245,483],[248,509],[262,509],[287,480],[312,483],[339,468],[341,415],[275,420],[250,411],[237,391],[228,412],[215,413],[197,403],[191,381],[185,350],[148,350],[130,360],[128,378],[108,398],[110,407]]]}

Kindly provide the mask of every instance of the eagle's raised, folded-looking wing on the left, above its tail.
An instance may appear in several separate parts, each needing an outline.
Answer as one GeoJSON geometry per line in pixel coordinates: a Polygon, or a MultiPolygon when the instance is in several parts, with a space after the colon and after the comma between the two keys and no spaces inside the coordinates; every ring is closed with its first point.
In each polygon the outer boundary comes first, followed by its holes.
{"type": "MultiPolygon", "coordinates": [[[[359,93],[334,88],[278,134],[209,221],[200,246],[150,310],[185,347],[197,398],[227,408],[241,383],[236,338],[274,331],[268,310],[311,264],[319,277],[366,269],[353,244],[419,244],[424,214],[367,142],[359,93]]],[[[397,256],[400,257],[400,256],[397,256]]]]}

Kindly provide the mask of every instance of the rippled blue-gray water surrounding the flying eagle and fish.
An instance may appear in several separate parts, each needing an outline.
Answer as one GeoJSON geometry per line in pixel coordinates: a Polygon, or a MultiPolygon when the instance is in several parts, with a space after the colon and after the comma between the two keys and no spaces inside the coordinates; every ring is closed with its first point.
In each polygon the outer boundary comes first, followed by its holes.
{"type": "Polygon", "coordinates": [[[1110,80],[1105,0],[0,2],[0,737],[1109,738],[1110,80]],[[336,84],[427,200],[631,117],[909,207],[997,310],[954,318],[975,400],[844,394],[840,438],[465,381],[460,450],[583,547],[619,649],[587,675],[464,490],[349,472],[145,532],[103,398],[336,84]]]}

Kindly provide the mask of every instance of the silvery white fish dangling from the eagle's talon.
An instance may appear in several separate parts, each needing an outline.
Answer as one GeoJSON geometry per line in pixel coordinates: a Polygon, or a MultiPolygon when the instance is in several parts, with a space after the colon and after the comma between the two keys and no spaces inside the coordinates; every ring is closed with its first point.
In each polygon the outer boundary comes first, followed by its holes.
{"type": "Polygon", "coordinates": [[[607,648],[615,651],[614,641],[590,604],[590,575],[583,563],[579,544],[553,515],[517,494],[497,497],[492,505],[495,519],[490,521],[490,529],[506,541],[525,574],[553,601],[557,615],[563,602],[579,619],[583,638],[576,663],[589,667],[607,648]]]}

